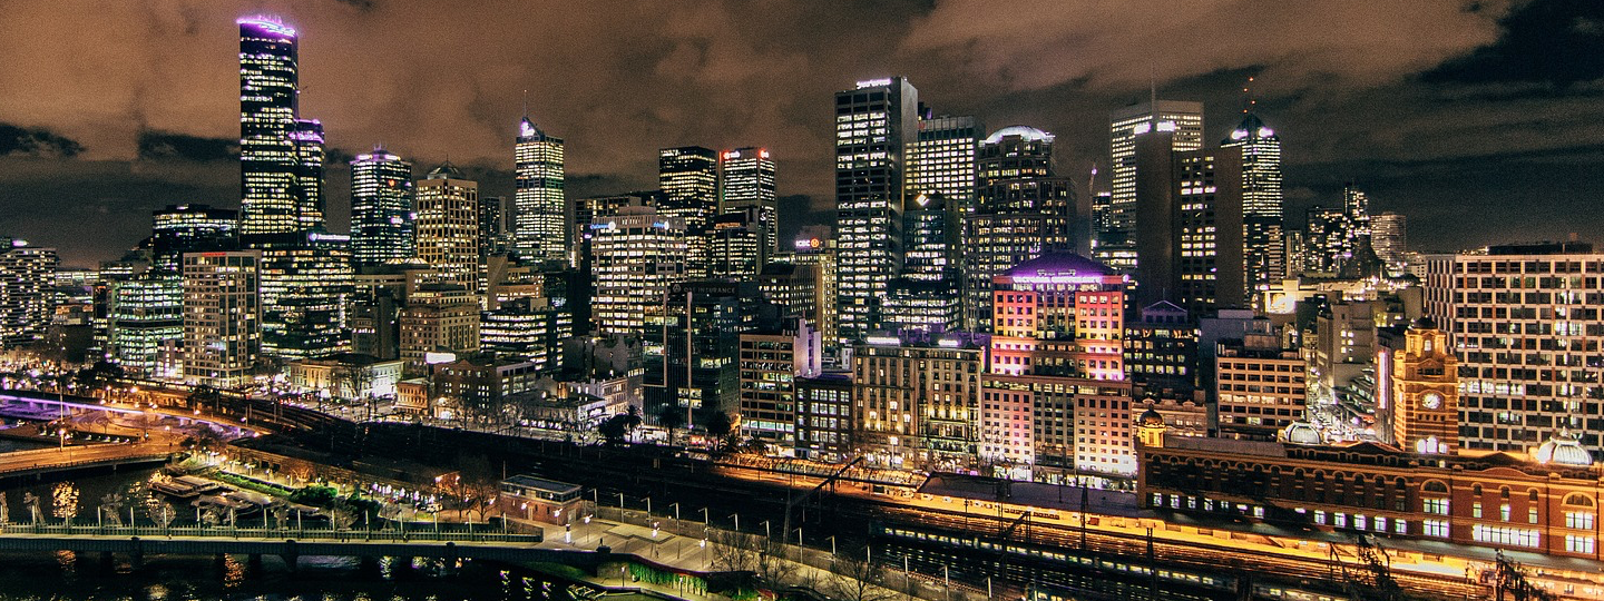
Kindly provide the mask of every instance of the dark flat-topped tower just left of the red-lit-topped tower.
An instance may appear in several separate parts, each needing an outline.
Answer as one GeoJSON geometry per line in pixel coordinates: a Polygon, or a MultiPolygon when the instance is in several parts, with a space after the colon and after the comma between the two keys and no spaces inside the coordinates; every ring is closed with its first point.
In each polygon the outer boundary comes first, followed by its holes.
{"type": "Polygon", "coordinates": [[[709,276],[707,250],[719,216],[719,155],[701,146],[658,151],[658,213],[685,221],[685,268],[690,277],[709,276]]]}

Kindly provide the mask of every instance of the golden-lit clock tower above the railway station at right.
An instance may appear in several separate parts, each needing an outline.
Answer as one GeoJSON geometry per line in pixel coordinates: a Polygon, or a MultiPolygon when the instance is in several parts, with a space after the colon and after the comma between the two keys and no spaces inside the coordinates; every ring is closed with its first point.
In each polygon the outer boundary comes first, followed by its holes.
{"type": "Polygon", "coordinates": [[[1452,455],[1460,449],[1458,361],[1431,319],[1404,333],[1392,354],[1392,441],[1404,450],[1452,455]]]}

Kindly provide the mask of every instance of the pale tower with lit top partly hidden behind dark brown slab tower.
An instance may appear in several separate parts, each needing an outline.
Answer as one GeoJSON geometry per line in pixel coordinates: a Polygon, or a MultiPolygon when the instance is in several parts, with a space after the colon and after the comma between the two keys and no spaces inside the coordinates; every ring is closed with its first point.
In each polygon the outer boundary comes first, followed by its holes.
{"type": "Polygon", "coordinates": [[[1148,131],[1174,133],[1174,151],[1203,147],[1203,103],[1152,99],[1108,115],[1113,194],[1107,229],[1097,232],[1096,258],[1112,268],[1136,268],[1136,138],[1148,131]]]}

